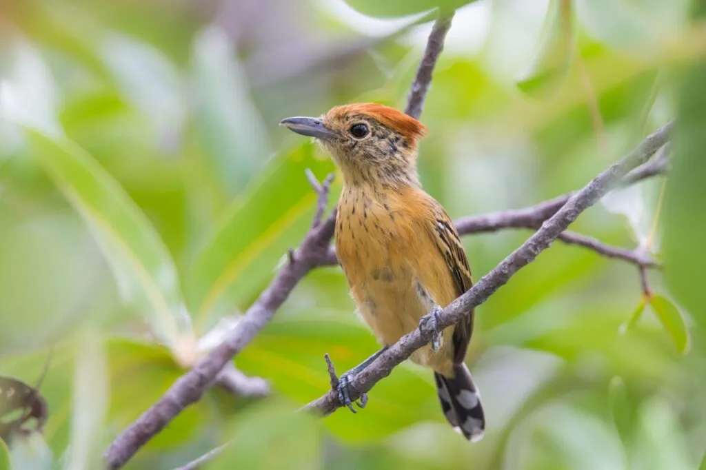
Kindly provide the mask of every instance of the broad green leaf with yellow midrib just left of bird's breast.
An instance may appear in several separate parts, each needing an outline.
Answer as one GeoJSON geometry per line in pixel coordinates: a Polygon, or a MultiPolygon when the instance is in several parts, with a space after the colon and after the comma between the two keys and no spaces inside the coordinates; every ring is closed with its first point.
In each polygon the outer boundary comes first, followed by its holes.
{"type": "MultiPolygon", "coordinates": [[[[315,150],[300,145],[270,162],[218,224],[189,275],[190,310],[199,332],[232,313],[233,305],[244,308],[274,274],[287,248],[301,242],[316,205],[304,170],[311,168],[320,180],[333,171],[330,159],[316,157],[315,150]],[[222,310],[214,311],[217,307],[222,310]]],[[[331,192],[333,204],[337,188],[331,192]]]]}

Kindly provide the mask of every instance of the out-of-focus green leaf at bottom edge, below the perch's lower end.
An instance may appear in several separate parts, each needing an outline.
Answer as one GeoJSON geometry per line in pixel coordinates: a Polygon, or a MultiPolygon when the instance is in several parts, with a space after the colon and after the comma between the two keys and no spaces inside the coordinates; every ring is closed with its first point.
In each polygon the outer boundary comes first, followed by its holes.
{"type": "Polygon", "coordinates": [[[292,413],[285,404],[258,404],[234,420],[226,433],[232,443],[205,469],[320,469],[319,423],[316,416],[292,413]]]}

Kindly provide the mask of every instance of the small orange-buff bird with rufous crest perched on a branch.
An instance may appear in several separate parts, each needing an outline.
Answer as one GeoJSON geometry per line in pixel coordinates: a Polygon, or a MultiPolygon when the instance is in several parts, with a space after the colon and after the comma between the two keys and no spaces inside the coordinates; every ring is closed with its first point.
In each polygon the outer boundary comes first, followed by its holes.
{"type": "Polygon", "coordinates": [[[472,279],[453,223],[419,183],[417,143],[426,128],[397,109],[373,103],[346,104],[318,118],[291,117],[280,124],[313,137],[341,170],[336,253],[359,313],[383,344],[341,376],[340,401],[354,411],[348,390],[354,375],[415,328],[432,330],[431,344],[410,358],[433,369],[451,426],[479,440],[483,407],[463,362],[473,313],[443,331],[438,327],[441,308],[470,289],[472,279]]]}

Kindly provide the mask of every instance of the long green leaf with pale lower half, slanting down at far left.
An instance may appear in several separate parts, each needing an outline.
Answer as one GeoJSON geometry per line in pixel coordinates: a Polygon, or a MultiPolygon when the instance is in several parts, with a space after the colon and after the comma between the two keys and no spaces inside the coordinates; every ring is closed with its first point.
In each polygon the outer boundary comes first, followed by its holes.
{"type": "Polygon", "coordinates": [[[32,154],[80,213],[110,263],[121,296],[185,363],[194,343],[174,261],[139,207],[107,171],[68,138],[27,128],[32,154]]]}

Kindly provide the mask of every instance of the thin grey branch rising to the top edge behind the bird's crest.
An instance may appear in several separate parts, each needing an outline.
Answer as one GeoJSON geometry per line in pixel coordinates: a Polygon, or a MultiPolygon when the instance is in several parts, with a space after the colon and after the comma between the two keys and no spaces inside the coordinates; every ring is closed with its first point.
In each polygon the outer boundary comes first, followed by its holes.
{"type": "Polygon", "coordinates": [[[431,28],[429,39],[426,40],[426,49],[424,49],[424,55],[421,56],[421,62],[419,63],[419,68],[417,68],[417,76],[412,82],[412,89],[409,90],[407,109],[405,109],[405,113],[414,119],[419,119],[421,110],[424,108],[424,99],[431,86],[431,74],[434,71],[439,54],[443,50],[443,41],[446,33],[451,28],[452,17],[453,15],[439,16],[431,28]]]}

